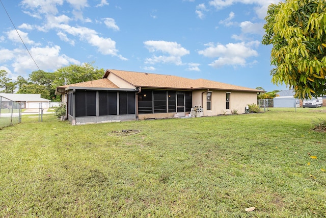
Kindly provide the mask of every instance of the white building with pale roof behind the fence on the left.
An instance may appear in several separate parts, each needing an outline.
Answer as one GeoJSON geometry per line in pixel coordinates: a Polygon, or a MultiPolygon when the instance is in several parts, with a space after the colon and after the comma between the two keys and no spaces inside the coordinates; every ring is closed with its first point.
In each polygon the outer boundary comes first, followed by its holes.
{"type": "MultiPolygon", "coordinates": [[[[5,99],[19,102],[21,108],[49,108],[50,100],[41,98],[41,94],[12,94],[12,93],[0,93],[0,97],[5,99]]],[[[6,101],[3,99],[3,104],[6,101]]],[[[10,101],[6,101],[10,104],[10,101]]]]}

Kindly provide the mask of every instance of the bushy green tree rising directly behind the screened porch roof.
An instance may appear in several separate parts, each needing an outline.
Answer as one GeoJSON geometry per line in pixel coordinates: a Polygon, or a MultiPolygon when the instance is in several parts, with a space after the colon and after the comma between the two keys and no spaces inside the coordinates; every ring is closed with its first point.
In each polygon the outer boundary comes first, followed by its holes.
{"type": "Polygon", "coordinates": [[[83,65],[72,64],[58,69],[54,72],[55,79],[53,80],[52,88],[56,89],[57,86],[101,79],[104,69],[98,69],[93,64],[94,62],[84,63],[83,65]]]}

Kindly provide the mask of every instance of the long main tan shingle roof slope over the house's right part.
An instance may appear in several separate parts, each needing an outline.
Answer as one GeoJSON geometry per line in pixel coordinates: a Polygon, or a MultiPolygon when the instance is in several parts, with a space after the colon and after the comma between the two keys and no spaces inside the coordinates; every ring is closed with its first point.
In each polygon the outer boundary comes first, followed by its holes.
{"type": "Polygon", "coordinates": [[[204,79],[187,79],[172,75],[148,74],[146,72],[133,72],[110,69],[105,71],[103,78],[108,74],[113,73],[121,79],[129,82],[134,86],[149,87],[149,88],[175,88],[175,89],[220,89],[220,90],[239,90],[257,92],[258,90],[220,83],[204,79]]]}

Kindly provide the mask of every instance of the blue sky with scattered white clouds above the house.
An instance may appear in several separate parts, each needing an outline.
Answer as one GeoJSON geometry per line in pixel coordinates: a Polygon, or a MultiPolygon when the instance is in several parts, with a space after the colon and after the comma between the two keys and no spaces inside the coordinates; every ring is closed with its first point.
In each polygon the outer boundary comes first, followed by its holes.
{"type": "MultiPolygon", "coordinates": [[[[95,61],[104,69],[208,79],[239,86],[271,83],[261,44],[269,4],[280,0],[2,0],[41,70],[95,61]]],[[[0,69],[38,70],[0,6],[0,69]]]]}

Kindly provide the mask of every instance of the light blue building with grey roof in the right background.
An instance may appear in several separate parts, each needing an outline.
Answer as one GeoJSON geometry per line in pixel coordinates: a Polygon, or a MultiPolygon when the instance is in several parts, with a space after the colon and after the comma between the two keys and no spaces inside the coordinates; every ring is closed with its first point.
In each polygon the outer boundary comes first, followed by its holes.
{"type": "Polygon", "coordinates": [[[293,108],[302,105],[302,100],[294,98],[293,89],[279,91],[276,94],[279,96],[274,98],[275,108],[293,108]]]}

